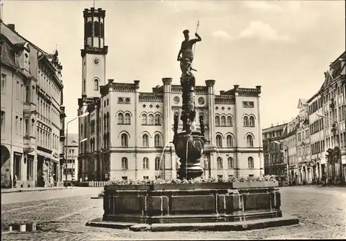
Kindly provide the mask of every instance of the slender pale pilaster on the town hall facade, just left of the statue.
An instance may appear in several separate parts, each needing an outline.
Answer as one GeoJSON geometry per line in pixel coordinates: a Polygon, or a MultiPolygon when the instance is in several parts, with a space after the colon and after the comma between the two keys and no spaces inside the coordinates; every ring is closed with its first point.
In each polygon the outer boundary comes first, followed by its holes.
{"type": "MultiPolygon", "coordinates": [[[[171,83],[172,78],[162,78],[163,83],[163,145],[172,141],[172,104],[171,104],[171,83]]],[[[166,148],[164,146],[163,148],[166,148]]],[[[163,155],[164,177],[171,178],[173,171],[172,157],[168,152],[168,148],[165,150],[163,155]],[[166,171],[167,170],[167,171],[166,171]]]]}

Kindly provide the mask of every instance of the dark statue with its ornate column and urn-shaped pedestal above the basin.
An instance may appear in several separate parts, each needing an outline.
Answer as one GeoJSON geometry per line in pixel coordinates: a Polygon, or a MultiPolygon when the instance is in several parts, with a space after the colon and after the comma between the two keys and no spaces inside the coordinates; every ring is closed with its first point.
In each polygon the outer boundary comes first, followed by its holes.
{"type": "MultiPolygon", "coordinates": [[[[197,25],[198,27],[198,25],[197,25]]],[[[192,61],[194,52],[192,47],[201,41],[201,37],[196,32],[196,39],[190,39],[189,30],[183,31],[185,40],[181,43],[181,49],[177,57],[181,68],[181,87],[183,87],[183,105],[181,106],[181,121],[183,130],[178,133],[178,116],[174,116],[174,139],[173,143],[176,154],[180,158],[181,166],[178,170],[180,179],[191,179],[200,177],[203,174],[203,168],[200,165],[200,158],[203,153],[205,126],[203,117],[199,119],[201,132],[196,131],[196,106],[194,100],[194,86],[196,79],[192,74],[192,61]]],[[[196,71],[196,70],[194,70],[196,71]]]]}

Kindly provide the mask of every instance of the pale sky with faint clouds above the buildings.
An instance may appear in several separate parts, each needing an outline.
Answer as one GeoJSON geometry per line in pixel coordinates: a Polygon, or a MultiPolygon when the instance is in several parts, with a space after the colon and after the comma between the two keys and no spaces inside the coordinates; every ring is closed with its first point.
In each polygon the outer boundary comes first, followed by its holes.
{"type": "MultiPolygon", "coordinates": [[[[66,119],[77,115],[82,93],[84,8],[93,1],[3,0],[3,21],[62,62],[66,119]]],[[[215,79],[215,92],[239,84],[262,86],[261,127],[289,122],[298,99],[309,99],[331,61],[345,51],[345,1],[95,1],[106,10],[106,79],[133,83],[140,92],[179,84],[176,56],[182,31],[198,33],[197,85],[215,79]]],[[[78,132],[78,122],[69,132],[78,132]]]]}

